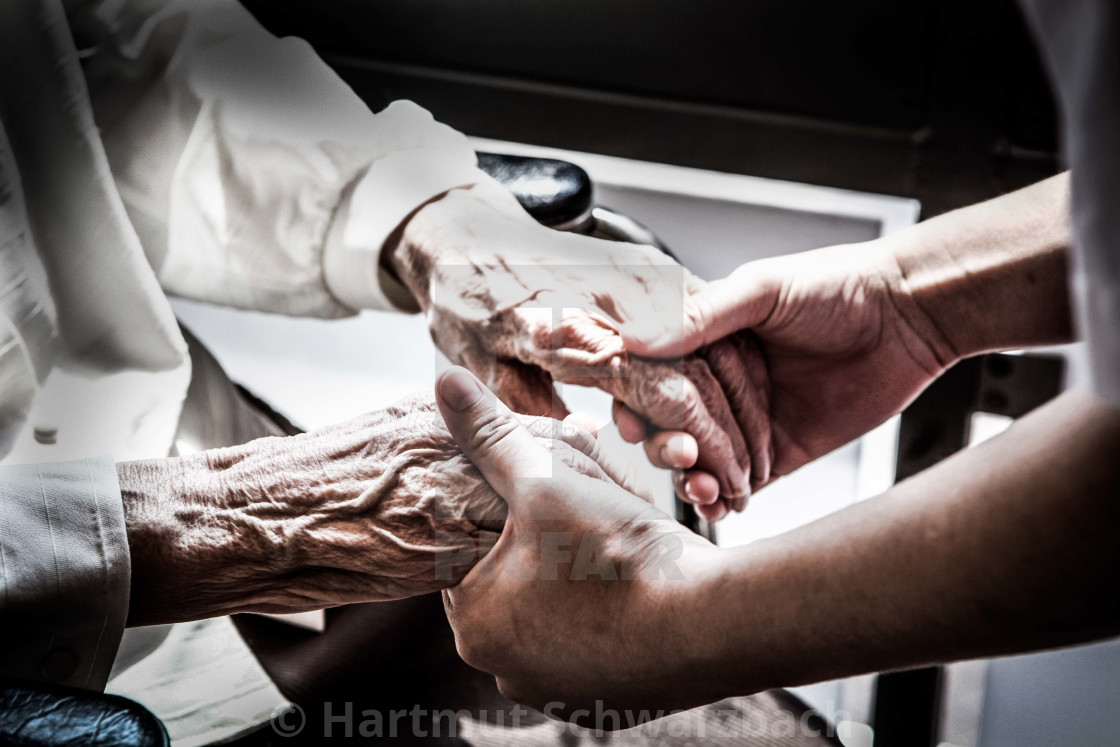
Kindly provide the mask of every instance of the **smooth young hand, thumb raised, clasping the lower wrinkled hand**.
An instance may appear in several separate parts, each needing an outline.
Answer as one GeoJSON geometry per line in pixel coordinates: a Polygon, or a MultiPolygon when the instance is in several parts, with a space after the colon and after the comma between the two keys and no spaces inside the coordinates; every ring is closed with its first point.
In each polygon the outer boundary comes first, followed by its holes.
{"type": "Polygon", "coordinates": [[[493,551],[445,591],[463,659],[513,700],[554,703],[553,717],[579,720],[595,700],[715,700],[700,654],[712,613],[691,595],[722,551],[617,485],[553,464],[466,371],[437,392],[452,437],[510,506],[493,551]]]}

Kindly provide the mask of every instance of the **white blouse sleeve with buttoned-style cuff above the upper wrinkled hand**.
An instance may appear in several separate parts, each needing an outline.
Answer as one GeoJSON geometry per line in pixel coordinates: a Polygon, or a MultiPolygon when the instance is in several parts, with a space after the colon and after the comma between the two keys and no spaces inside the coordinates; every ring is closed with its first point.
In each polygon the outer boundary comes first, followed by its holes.
{"type": "Polygon", "coordinates": [[[233,0],[72,4],[113,175],[165,290],[293,315],[416,308],[381,249],[421,204],[485,179],[465,137],[407,102],[373,114],[307,43],[233,0]]]}

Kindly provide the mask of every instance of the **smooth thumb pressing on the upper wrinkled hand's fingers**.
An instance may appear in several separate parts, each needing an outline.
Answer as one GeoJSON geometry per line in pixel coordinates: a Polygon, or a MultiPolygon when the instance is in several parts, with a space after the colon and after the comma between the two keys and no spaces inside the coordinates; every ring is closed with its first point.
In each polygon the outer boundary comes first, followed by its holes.
{"type": "Polygon", "coordinates": [[[744,272],[747,267],[687,296],[679,326],[666,326],[663,316],[661,324],[644,319],[624,325],[626,351],[654,358],[681,357],[764,321],[774,307],[772,288],[749,279],[753,273],[744,272]]]}

